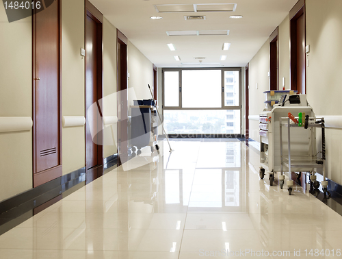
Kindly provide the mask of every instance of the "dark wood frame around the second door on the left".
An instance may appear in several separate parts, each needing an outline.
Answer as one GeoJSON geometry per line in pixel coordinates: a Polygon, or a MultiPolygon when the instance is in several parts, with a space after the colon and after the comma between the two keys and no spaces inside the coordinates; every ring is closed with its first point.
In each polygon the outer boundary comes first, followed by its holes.
{"type": "MultiPolygon", "coordinates": [[[[85,15],[84,15],[84,42],[86,42],[86,19],[87,16],[92,18],[93,21],[96,22],[97,25],[97,66],[96,66],[96,73],[97,73],[97,86],[96,86],[96,95],[97,95],[97,107],[98,107],[98,112],[100,116],[102,117],[102,110],[103,108],[103,14],[98,11],[92,3],[90,3],[89,0],[86,0],[86,10],[85,10],[85,15]],[[100,55],[98,55],[100,53],[100,55]]],[[[86,65],[85,65],[86,69],[86,65]]],[[[85,73],[85,82],[86,82],[86,73],[85,73]]],[[[86,104],[86,88],[85,88],[85,104],[86,104]]],[[[85,107],[85,112],[87,113],[86,107],[85,107]]],[[[85,114],[86,115],[86,114],[85,114]]],[[[87,117],[87,116],[86,116],[87,117]]],[[[101,120],[102,121],[102,120],[101,120]]],[[[86,121],[86,127],[87,127],[87,121],[86,121]]],[[[86,140],[86,127],[85,127],[85,146],[87,145],[87,140],[86,140]]],[[[98,132],[98,138],[101,138],[98,140],[97,144],[97,163],[98,165],[103,165],[103,134],[102,130],[101,132],[98,132]]],[[[86,153],[85,153],[85,164],[86,164],[86,169],[87,167],[87,146],[86,146],[86,153]]]]}

